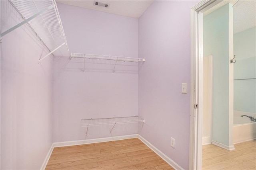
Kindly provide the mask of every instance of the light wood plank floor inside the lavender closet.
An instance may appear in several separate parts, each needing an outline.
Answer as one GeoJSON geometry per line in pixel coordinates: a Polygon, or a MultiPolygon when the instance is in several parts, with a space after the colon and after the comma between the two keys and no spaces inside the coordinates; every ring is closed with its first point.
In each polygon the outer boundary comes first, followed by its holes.
{"type": "Polygon", "coordinates": [[[174,170],[138,138],[54,148],[46,170],[174,170]]]}

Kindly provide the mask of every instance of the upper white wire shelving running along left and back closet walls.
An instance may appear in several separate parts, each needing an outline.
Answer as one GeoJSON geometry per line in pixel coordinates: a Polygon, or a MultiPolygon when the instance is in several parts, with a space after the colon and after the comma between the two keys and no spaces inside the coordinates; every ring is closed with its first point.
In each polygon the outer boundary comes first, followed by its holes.
{"type": "Polygon", "coordinates": [[[28,24],[28,26],[35,33],[36,37],[38,37],[38,39],[40,39],[40,41],[42,41],[42,43],[49,50],[49,53],[41,57],[38,63],[40,63],[43,59],[51,54],[55,56],[70,57],[70,59],[83,58],[85,72],[85,59],[108,60],[114,62],[114,68],[112,71],[114,73],[116,66],[120,65],[118,61],[142,63],[141,65],[137,64],[138,66],[142,66],[145,62],[145,59],[131,57],[79,53],[70,54],[55,0],[8,0],[8,2],[10,2],[14,9],[20,14],[23,21],[14,27],[11,27],[10,29],[0,33],[0,39],[21,25],[25,23],[28,24]]]}

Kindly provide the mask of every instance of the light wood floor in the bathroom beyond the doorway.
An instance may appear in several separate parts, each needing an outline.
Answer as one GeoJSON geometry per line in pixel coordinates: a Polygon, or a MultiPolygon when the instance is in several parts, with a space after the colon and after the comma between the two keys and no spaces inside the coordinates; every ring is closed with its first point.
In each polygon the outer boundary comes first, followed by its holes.
{"type": "Polygon", "coordinates": [[[234,145],[229,151],[215,145],[202,150],[203,170],[256,170],[256,140],[234,145]]]}

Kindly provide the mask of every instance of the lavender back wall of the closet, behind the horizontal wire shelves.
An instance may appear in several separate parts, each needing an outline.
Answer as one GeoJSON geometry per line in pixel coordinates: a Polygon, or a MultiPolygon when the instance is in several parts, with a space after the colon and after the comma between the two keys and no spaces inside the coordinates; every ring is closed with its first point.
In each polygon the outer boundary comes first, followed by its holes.
{"type": "MultiPolygon", "coordinates": [[[[71,52],[138,57],[138,19],[65,4],[58,10],[71,52]]],[[[86,59],[84,73],[83,62],[54,58],[54,142],[90,139],[81,119],[138,115],[138,67],[119,62],[112,74],[112,61],[86,59]]]]}

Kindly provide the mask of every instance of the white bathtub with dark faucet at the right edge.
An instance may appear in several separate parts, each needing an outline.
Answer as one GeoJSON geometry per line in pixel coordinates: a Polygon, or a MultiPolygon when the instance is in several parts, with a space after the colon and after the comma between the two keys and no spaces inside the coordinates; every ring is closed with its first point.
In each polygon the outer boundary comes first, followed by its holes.
{"type": "Polygon", "coordinates": [[[256,113],[234,110],[234,144],[256,139],[256,122],[250,121],[248,117],[241,117],[241,115],[248,115],[256,118],[256,113]]]}

